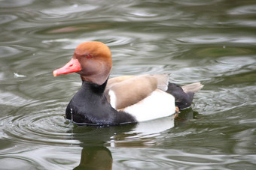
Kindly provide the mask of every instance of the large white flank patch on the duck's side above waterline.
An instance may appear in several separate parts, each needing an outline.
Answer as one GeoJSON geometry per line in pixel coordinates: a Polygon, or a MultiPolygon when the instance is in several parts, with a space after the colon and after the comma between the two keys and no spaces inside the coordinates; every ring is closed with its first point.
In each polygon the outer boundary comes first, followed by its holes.
{"type": "Polygon", "coordinates": [[[137,121],[149,121],[175,113],[175,98],[171,94],[156,90],[144,100],[123,109],[137,121]]]}

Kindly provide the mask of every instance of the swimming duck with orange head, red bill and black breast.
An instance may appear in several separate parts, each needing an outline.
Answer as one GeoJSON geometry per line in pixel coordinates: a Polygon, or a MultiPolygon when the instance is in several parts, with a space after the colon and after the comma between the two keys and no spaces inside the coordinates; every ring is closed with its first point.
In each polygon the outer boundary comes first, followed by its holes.
{"type": "Polygon", "coordinates": [[[78,73],[81,88],[66,107],[66,119],[78,125],[136,124],[174,115],[190,107],[200,82],[180,86],[168,74],[118,76],[109,79],[111,50],[105,43],[79,44],[72,59],[53,76],[78,73]]]}

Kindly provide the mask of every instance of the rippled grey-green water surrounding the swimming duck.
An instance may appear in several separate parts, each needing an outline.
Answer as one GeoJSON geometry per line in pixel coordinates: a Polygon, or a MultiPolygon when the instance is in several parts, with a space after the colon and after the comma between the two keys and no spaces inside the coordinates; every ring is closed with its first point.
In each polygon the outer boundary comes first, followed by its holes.
{"type": "Polygon", "coordinates": [[[255,169],[255,1],[0,1],[0,169],[255,169]],[[53,77],[84,41],[111,76],[202,82],[179,117],[78,127],[77,74],[53,77]],[[87,168],[89,169],[89,168],[87,168]]]}

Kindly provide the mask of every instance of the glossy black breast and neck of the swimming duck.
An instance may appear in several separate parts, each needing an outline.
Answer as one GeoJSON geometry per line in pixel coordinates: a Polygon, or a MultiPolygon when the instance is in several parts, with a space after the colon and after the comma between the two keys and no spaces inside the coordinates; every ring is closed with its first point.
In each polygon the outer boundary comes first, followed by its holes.
{"type": "Polygon", "coordinates": [[[105,85],[83,81],[81,89],[75,94],[66,108],[66,118],[76,124],[115,125],[136,123],[136,119],[126,112],[117,112],[108,103],[105,85]]]}

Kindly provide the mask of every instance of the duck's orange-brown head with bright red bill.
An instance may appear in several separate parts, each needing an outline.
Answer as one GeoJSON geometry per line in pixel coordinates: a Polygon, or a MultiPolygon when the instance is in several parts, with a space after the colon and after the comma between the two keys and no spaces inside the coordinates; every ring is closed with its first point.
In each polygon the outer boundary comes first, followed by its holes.
{"type": "Polygon", "coordinates": [[[108,46],[90,41],[79,44],[71,61],[54,70],[53,76],[78,73],[84,81],[102,85],[108,79],[111,67],[111,51],[108,46]]]}

